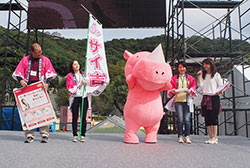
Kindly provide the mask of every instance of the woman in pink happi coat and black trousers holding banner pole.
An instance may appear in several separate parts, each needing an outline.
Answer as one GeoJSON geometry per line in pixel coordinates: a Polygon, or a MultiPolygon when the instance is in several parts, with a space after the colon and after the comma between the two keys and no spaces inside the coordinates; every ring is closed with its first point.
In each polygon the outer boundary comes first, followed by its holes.
{"type": "MultiPolygon", "coordinates": [[[[83,106],[83,117],[82,117],[82,131],[81,131],[81,142],[85,142],[85,133],[86,133],[86,114],[88,110],[88,100],[86,93],[84,96],[83,84],[86,83],[84,79],[84,72],[80,71],[80,64],[78,61],[71,61],[68,66],[68,75],[66,80],[66,87],[70,93],[69,97],[69,107],[72,112],[72,129],[73,129],[73,142],[77,142],[77,120],[79,116],[79,107],[82,108],[82,97],[84,97],[84,106],[83,106]]],[[[81,111],[81,110],[80,110],[81,111]]]]}

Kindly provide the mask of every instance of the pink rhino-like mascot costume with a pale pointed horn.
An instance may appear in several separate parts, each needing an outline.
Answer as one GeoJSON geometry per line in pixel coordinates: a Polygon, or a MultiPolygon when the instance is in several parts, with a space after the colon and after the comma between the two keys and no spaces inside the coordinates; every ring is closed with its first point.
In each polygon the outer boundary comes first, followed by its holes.
{"type": "Polygon", "coordinates": [[[161,90],[171,88],[172,70],[165,62],[161,45],[152,53],[124,52],[127,60],[125,76],[129,87],[124,106],[126,124],[125,143],[139,143],[136,135],[140,127],[146,130],[144,142],[156,143],[163,116],[161,90]]]}

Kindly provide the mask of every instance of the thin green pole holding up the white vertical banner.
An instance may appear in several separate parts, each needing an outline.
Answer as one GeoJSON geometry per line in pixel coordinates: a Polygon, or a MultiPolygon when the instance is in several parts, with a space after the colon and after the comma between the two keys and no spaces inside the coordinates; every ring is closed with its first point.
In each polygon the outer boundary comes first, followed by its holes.
{"type": "MultiPolygon", "coordinates": [[[[82,5],[82,4],[81,4],[82,5]]],[[[83,6],[83,5],[82,5],[83,6]]],[[[85,8],[85,7],[84,7],[85,8]]],[[[87,55],[88,55],[88,45],[89,45],[89,27],[90,27],[90,17],[91,13],[89,13],[89,25],[88,25],[88,38],[87,38],[87,48],[86,48],[86,56],[85,56],[85,68],[84,68],[84,79],[86,79],[86,73],[87,73],[87,55]]],[[[83,92],[82,92],[82,108],[81,108],[81,121],[80,121],[80,132],[79,132],[79,139],[82,136],[82,119],[83,119],[83,107],[84,107],[84,91],[85,91],[86,84],[83,84],[83,92]]],[[[87,112],[86,112],[87,113],[87,112]]],[[[85,118],[86,120],[86,118],[85,118]]]]}

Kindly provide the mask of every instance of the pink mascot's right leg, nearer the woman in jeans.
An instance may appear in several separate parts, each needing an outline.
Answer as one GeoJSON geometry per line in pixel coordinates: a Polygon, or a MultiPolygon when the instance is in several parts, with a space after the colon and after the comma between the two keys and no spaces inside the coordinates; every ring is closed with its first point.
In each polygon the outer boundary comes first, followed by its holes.
{"type": "Polygon", "coordinates": [[[156,123],[153,126],[145,127],[146,137],[144,139],[145,143],[156,143],[157,142],[157,132],[161,122],[156,123]]]}

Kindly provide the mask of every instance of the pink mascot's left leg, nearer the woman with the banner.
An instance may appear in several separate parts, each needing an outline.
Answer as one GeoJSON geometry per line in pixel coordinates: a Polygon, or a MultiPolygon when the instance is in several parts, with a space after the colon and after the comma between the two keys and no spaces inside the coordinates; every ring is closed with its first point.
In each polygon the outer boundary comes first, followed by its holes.
{"type": "Polygon", "coordinates": [[[139,130],[140,126],[136,124],[134,121],[127,118],[125,119],[125,123],[126,123],[126,132],[124,136],[124,142],[131,144],[139,143],[139,138],[136,135],[136,133],[139,130]]]}

